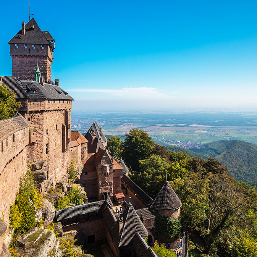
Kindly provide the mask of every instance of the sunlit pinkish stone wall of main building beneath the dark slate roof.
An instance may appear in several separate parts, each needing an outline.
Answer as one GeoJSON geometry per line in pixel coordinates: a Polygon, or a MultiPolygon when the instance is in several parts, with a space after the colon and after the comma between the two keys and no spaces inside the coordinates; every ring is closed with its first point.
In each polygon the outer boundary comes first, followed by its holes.
{"type": "Polygon", "coordinates": [[[71,104],[71,101],[63,100],[41,100],[35,103],[29,100],[29,111],[24,114],[24,118],[31,122],[30,129],[35,130],[36,134],[36,142],[28,146],[27,161],[34,163],[47,160],[48,179],[52,178],[53,186],[66,174],[71,161],[71,104]]]}

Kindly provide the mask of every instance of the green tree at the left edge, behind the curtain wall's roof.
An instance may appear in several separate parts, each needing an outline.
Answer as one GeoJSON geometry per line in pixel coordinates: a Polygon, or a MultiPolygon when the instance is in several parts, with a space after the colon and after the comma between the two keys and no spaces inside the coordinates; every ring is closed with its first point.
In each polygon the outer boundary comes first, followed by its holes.
{"type": "Polygon", "coordinates": [[[13,117],[17,108],[21,107],[20,102],[15,102],[15,93],[0,84],[0,120],[13,117]]]}

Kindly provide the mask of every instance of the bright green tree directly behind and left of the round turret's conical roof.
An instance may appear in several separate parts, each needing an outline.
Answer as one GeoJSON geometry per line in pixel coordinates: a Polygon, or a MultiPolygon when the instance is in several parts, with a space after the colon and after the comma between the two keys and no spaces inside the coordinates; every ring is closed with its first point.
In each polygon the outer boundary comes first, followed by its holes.
{"type": "Polygon", "coordinates": [[[131,179],[151,197],[155,197],[163,186],[165,171],[170,164],[160,155],[151,155],[145,160],[139,160],[139,171],[135,171],[131,179]]]}

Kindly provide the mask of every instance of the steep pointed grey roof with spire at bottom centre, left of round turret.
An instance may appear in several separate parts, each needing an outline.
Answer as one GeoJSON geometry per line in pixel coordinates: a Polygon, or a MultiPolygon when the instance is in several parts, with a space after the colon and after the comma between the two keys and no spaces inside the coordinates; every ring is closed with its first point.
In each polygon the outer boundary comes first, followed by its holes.
{"type": "MultiPolygon", "coordinates": [[[[132,204],[128,204],[128,207],[123,211],[121,217],[123,218],[123,227],[120,231],[118,247],[131,244],[136,233],[139,233],[143,238],[148,236],[148,232],[135,212],[132,204]]],[[[118,222],[119,220],[117,223],[118,222]]]]}

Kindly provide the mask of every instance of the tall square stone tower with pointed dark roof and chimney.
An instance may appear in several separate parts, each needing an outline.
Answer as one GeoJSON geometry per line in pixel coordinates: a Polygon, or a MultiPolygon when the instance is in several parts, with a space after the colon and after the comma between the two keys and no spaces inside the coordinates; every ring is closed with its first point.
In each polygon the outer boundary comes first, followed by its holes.
{"type": "Polygon", "coordinates": [[[25,25],[21,24],[21,30],[8,42],[10,55],[13,59],[13,76],[21,80],[35,78],[35,68],[41,71],[41,76],[46,82],[51,81],[53,51],[55,40],[48,31],[41,31],[34,18],[25,25]]]}

